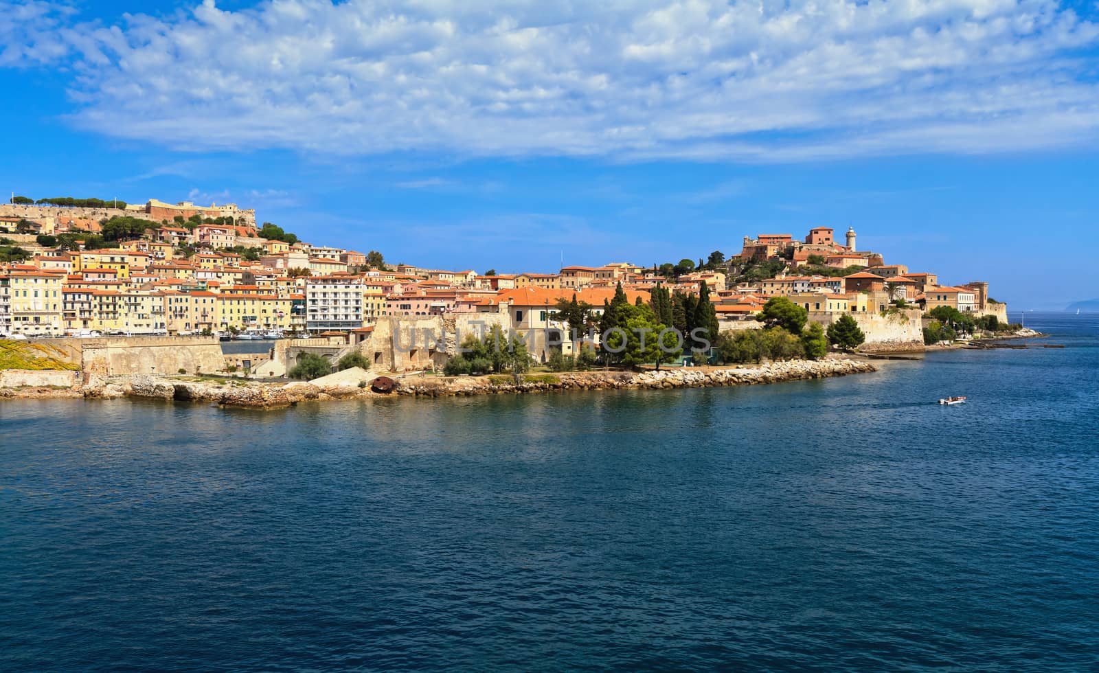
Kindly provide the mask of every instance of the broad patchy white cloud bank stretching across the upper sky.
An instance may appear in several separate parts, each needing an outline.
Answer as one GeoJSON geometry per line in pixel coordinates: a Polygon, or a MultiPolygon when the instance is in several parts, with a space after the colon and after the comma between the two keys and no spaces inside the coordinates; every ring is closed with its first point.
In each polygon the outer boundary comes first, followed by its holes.
{"type": "Polygon", "coordinates": [[[76,123],[177,148],[785,162],[1099,136],[1099,26],[1054,0],[207,0],[56,32],[0,58],[73,54],[76,123]]]}

